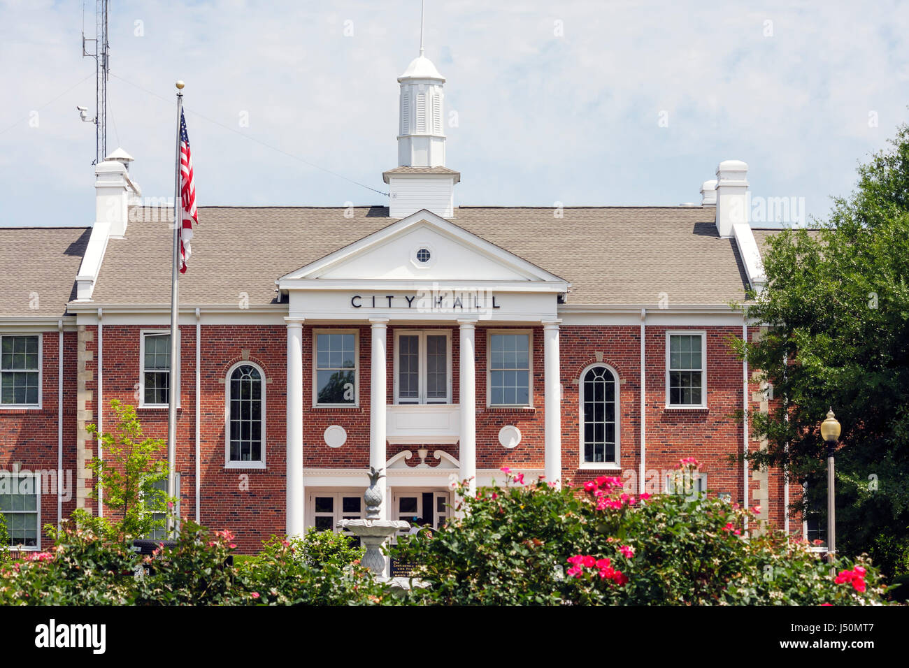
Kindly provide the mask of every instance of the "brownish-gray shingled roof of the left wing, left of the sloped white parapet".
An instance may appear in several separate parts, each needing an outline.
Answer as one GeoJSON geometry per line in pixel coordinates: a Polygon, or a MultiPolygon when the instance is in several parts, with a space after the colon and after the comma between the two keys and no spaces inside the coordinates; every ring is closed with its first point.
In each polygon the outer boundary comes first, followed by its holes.
{"type": "Polygon", "coordinates": [[[75,299],[75,274],[91,232],[90,227],[0,228],[0,316],[65,314],[66,303],[75,299]]]}

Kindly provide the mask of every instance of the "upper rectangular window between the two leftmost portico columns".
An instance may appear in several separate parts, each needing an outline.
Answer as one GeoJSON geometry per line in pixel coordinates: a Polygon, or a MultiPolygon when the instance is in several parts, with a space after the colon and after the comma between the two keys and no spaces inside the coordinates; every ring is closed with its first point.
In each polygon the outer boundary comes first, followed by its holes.
{"type": "Polygon", "coordinates": [[[360,405],[360,333],[313,331],[313,405],[360,405]]]}

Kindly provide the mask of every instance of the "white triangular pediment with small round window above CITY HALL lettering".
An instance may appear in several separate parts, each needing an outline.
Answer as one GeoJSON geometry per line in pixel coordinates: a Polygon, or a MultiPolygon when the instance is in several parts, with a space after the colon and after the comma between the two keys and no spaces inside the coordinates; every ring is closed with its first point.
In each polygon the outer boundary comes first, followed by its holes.
{"type": "Polygon", "coordinates": [[[565,284],[523,258],[425,209],[278,279],[565,284]]]}

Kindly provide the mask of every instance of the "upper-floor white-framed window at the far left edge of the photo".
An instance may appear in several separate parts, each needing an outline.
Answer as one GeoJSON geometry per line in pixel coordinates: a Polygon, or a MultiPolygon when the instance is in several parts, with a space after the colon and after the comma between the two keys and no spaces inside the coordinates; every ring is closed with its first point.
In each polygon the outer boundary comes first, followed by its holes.
{"type": "Polygon", "coordinates": [[[0,405],[41,407],[41,334],[0,336],[0,405]]]}

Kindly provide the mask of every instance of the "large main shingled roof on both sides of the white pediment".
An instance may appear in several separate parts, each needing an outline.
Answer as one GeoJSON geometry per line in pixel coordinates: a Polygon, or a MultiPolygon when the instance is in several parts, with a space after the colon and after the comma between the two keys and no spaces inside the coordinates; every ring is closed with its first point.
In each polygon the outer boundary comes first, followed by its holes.
{"type": "MultiPolygon", "coordinates": [[[[201,207],[181,303],[236,304],[241,293],[272,303],[279,276],[395,223],[383,206],[354,211],[201,207]]],[[[660,293],[674,305],[744,298],[744,267],[734,241],[717,235],[712,208],[566,207],[554,218],[552,208],[464,206],[452,222],[569,281],[568,304],[657,304],[660,293]]],[[[107,245],[95,302],[169,304],[171,244],[165,223],[130,223],[125,239],[107,245]]]]}

